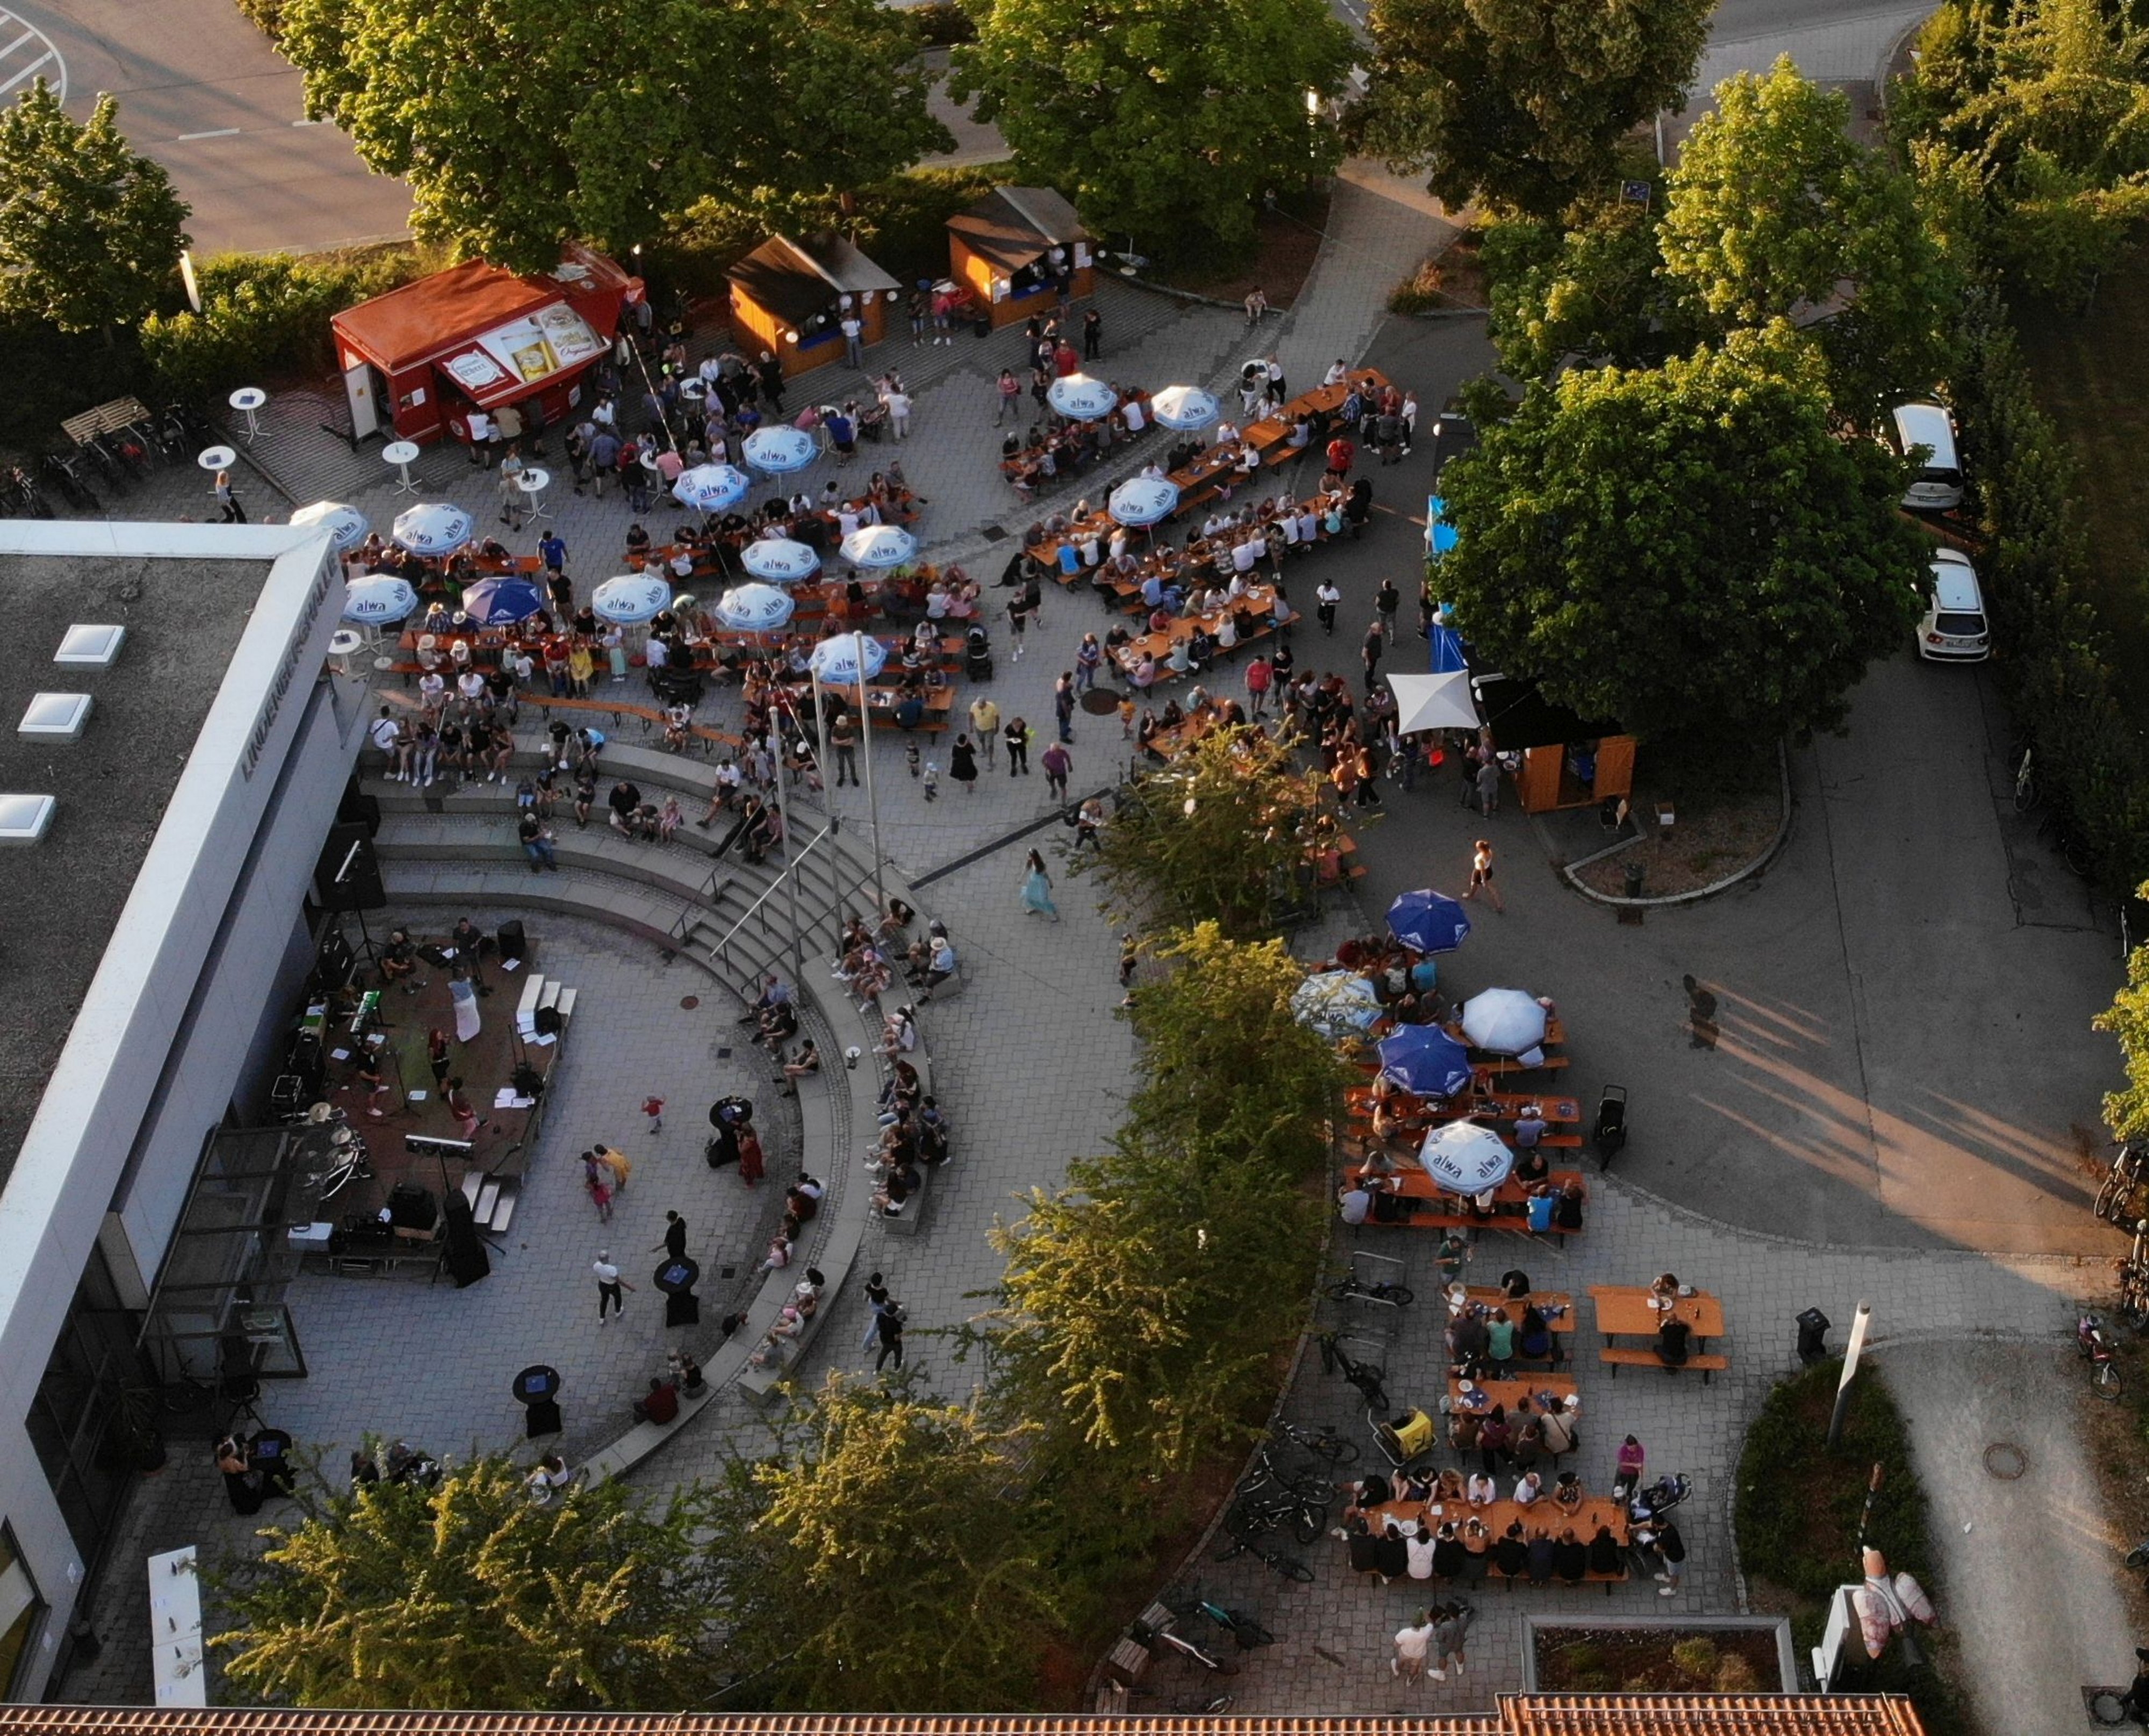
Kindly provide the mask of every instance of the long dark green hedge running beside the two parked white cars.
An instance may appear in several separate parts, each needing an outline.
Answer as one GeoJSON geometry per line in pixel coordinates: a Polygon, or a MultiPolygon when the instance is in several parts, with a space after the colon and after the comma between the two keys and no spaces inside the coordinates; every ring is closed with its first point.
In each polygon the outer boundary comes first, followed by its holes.
{"type": "Polygon", "coordinates": [[[1994,677],[2035,752],[2037,789],[2089,851],[2097,885],[2123,896],[2149,879],[2149,746],[2119,705],[2123,677],[2082,582],[2072,453],[2031,395],[1990,286],[1964,301],[1953,406],[1986,537],[1994,677]]]}

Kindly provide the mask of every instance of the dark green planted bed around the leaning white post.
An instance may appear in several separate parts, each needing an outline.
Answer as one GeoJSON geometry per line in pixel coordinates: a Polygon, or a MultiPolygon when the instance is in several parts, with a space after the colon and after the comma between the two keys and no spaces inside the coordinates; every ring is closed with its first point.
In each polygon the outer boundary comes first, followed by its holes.
{"type": "MultiPolygon", "coordinates": [[[[1945,1620],[1926,1491],[1910,1470],[1902,1412],[1878,1375],[1859,1375],[1842,1446],[1831,1452],[1825,1442],[1835,1381],[1833,1362],[1777,1381],[1739,1455],[1739,1560],[1756,1581],[1756,1605],[1790,1616],[1799,1657],[1820,1641],[1835,1588],[1861,1577],[1859,1525],[1874,1465],[1880,1491],[1863,1521],[1863,1538],[1887,1556],[1891,1571],[1915,1573],[1945,1620]]],[[[1852,1639],[1842,1687],[1908,1693],[1930,1736],[1971,1736],[1975,1725],[1951,1669],[1951,1633],[1919,1633],[1919,1644],[1934,1663],[1913,1669],[1900,1646],[1867,1663],[1852,1639]]]]}

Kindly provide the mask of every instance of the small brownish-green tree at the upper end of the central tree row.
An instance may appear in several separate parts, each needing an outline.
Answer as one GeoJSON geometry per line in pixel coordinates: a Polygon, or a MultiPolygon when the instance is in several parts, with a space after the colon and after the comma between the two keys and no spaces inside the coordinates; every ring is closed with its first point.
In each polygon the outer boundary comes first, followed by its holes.
{"type": "Polygon", "coordinates": [[[1094,874],[1128,920],[1214,922],[1231,939],[1268,935],[1304,872],[1322,778],[1294,743],[1218,728],[1133,786],[1094,857],[1094,874]]]}

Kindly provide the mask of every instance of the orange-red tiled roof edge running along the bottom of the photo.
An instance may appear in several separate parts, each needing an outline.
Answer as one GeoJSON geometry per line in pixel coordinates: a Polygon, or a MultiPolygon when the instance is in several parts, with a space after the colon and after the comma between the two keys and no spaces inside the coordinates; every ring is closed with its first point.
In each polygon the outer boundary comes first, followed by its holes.
{"type": "Polygon", "coordinates": [[[1504,1693],[1474,1717],[286,1712],[9,1706],[4,1736],[1926,1736],[1902,1695],[1504,1693]]]}

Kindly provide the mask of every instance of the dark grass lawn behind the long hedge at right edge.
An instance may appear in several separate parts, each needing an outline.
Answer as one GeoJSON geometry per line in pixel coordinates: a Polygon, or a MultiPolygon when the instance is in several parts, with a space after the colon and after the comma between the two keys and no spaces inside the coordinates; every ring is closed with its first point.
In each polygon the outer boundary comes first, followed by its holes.
{"type": "MultiPolygon", "coordinates": [[[[2037,404],[2074,451],[2076,505],[2089,535],[2080,582],[2112,636],[2115,662],[2149,660],[2149,273],[2140,254],[2108,271],[2082,316],[2024,307],[2016,316],[2037,404]]],[[[2136,726],[2149,692],[2117,685],[2136,726]]]]}

